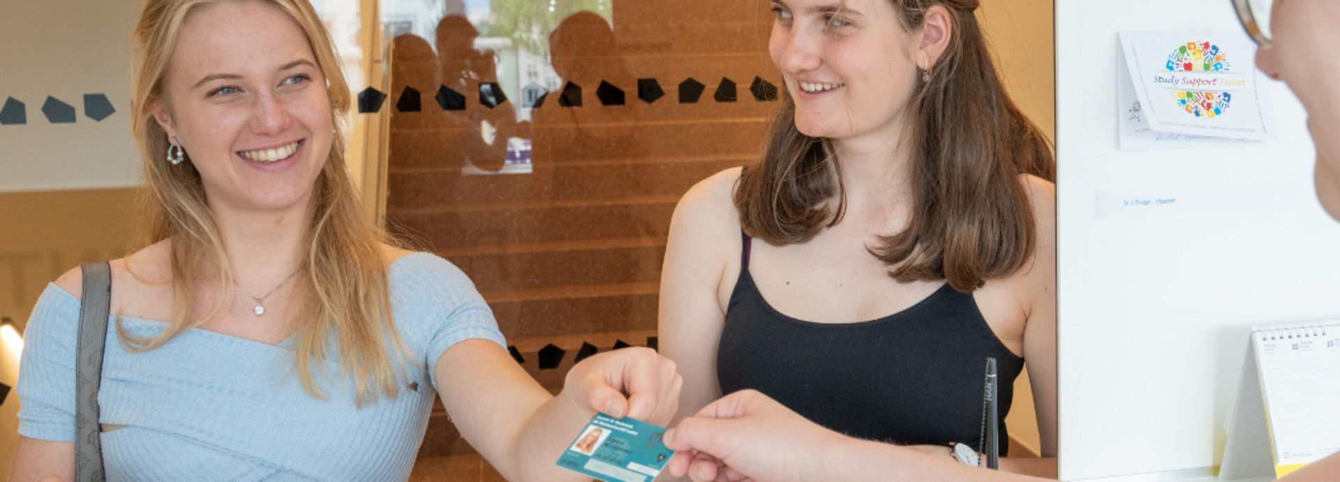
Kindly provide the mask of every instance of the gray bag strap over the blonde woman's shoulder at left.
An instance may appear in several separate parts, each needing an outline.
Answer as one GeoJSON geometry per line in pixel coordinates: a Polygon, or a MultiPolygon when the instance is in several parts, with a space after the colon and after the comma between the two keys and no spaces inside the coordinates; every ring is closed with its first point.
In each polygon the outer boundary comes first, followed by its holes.
{"type": "Polygon", "coordinates": [[[102,482],[102,424],[98,422],[98,388],[102,384],[102,353],[111,315],[111,265],[84,262],[83,299],[79,304],[79,345],[75,362],[75,482],[102,482]]]}

